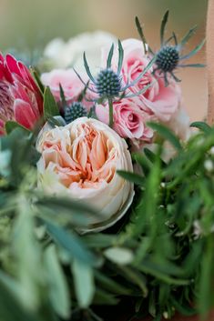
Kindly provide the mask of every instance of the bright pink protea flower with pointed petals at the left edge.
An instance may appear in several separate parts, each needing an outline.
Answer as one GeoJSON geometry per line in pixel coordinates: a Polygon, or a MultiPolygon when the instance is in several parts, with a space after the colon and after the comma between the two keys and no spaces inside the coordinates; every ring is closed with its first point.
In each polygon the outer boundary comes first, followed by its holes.
{"type": "Polygon", "coordinates": [[[32,129],[43,114],[43,97],[27,67],[12,55],[0,54],[0,135],[14,120],[32,129]]]}

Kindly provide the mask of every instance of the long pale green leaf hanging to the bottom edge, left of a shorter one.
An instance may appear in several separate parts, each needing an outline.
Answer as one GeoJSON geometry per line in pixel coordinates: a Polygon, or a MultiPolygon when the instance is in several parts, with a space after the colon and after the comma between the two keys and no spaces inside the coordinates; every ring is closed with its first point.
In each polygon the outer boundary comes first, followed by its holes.
{"type": "Polygon", "coordinates": [[[49,284],[49,297],[51,304],[58,316],[68,318],[70,316],[70,296],[66,284],[66,276],[60,266],[56,255],[56,247],[48,246],[44,253],[46,278],[49,284]]]}

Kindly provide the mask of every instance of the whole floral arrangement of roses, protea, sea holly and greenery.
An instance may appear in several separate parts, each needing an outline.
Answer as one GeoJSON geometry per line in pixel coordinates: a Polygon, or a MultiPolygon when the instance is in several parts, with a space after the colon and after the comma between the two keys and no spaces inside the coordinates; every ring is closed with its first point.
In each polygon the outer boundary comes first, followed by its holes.
{"type": "Polygon", "coordinates": [[[167,22],[157,52],[137,17],[139,40],[0,55],[2,320],[209,313],[214,135],[189,125],[177,75],[204,41],[186,54],[195,28],[178,42],[167,22]]]}

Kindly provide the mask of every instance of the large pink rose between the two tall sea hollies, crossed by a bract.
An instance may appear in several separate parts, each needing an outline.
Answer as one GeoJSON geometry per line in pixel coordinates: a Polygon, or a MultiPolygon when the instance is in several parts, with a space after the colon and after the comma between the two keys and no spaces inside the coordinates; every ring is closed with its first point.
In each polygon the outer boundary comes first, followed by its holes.
{"type": "MultiPolygon", "coordinates": [[[[127,39],[122,42],[124,48],[124,61],[122,68],[123,80],[126,84],[135,80],[148,65],[150,58],[145,55],[142,42],[137,39],[127,39]]],[[[152,67],[136,85],[129,91],[136,94],[144,86],[151,84],[146,93],[138,97],[145,107],[158,117],[160,121],[169,121],[176,114],[180,102],[180,89],[174,80],[169,79],[166,87],[161,76],[152,75],[152,67]]]]}

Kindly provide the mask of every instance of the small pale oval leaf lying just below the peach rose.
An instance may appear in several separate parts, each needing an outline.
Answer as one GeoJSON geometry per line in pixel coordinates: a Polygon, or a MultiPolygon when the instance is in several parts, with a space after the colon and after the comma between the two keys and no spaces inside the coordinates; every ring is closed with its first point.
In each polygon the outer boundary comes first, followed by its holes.
{"type": "Polygon", "coordinates": [[[125,247],[109,247],[105,250],[104,255],[117,265],[126,266],[133,261],[134,255],[131,250],[125,247]]]}

